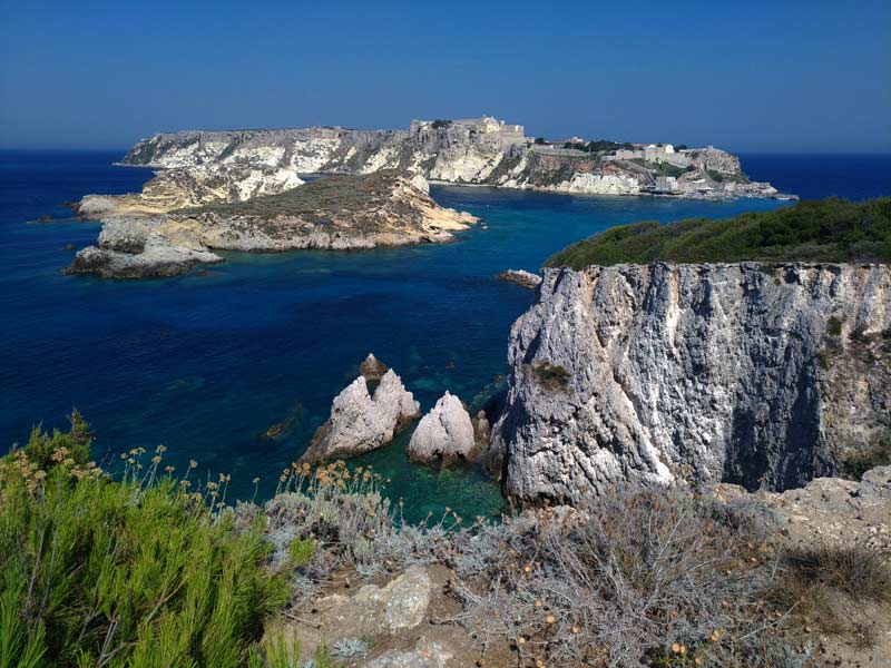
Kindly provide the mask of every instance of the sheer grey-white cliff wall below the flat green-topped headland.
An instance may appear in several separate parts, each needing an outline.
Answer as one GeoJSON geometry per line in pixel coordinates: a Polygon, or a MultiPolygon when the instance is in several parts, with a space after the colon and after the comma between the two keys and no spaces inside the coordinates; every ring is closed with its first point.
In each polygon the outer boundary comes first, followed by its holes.
{"type": "Polygon", "coordinates": [[[549,269],[511,330],[506,489],[832,474],[891,434],[890,327],[888,265],[549,269]]]}

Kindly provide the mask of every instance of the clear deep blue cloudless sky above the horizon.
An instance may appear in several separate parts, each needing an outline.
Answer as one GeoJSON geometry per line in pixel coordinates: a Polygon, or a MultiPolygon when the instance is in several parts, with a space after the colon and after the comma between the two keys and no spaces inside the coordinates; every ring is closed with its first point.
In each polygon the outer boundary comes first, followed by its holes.
{"type": "Polygon", "coordinates": [[[483,114],[549,139],[891,153],[891,1],[0,0],[0,148],[483,114]]]}

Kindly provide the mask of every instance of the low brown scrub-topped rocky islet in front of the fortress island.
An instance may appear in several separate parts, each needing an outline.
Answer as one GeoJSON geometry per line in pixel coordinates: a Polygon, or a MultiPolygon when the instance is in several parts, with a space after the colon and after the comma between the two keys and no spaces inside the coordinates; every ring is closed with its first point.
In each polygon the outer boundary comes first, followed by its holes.
{"type": "Polygon", "coordinates": [[[70,272],[166,276],[187,272],[195,264],[222,262],[210,249],[281,252],[441,243],[477,220],[439,206],[427,188],[421,177],[381,171],[163,214],[130,212],[120,205],[102,213],[90,200],[90,215],[104,220],[102,233],[96,246],[78,254],[70,272]]]}

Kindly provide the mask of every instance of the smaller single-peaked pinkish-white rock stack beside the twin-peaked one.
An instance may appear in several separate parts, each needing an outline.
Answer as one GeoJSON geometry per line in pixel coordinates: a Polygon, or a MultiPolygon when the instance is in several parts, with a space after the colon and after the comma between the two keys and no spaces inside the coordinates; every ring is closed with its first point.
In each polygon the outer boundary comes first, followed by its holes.
{"type": "Polygon", "coordinates": [[[409,442],[409,458],[419,462],[437,458],[443,462],[468,459],[473,443],[470,415],[461,400],[447,391],[418,423],[409,442]]]}

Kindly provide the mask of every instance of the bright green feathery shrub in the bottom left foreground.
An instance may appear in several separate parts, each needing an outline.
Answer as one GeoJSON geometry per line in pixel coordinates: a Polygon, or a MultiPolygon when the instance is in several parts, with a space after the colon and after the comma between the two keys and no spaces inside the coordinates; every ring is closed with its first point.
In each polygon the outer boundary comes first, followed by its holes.
{"type": "Polygon", "coordinates": [[[158,477],[163,449],[115,481],[79,463],[86,433],[75,414],[0,462],[0,665],[244,665],[286,601],[262,520],[236,531],[221,483],[158,477]]]}

